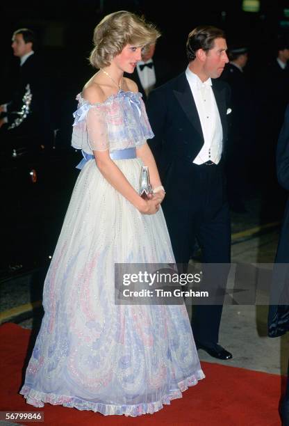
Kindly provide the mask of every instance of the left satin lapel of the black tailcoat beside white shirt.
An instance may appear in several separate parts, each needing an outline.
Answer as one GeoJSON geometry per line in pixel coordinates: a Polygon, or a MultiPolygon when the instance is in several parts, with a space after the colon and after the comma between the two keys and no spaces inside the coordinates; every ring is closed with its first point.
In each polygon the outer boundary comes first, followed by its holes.
{"type": "Polygon", "coordinates": [[[192,96],[192,91],[190,90],[190,85],[185,77],[185,73],[181,74],[176,89],[174,89],[174,95],[185,112],[185,115],[190,120],[190,123],[192,123],[197,132],[199,132],[201,138],[204,139],[195,100],[192,96]]]}

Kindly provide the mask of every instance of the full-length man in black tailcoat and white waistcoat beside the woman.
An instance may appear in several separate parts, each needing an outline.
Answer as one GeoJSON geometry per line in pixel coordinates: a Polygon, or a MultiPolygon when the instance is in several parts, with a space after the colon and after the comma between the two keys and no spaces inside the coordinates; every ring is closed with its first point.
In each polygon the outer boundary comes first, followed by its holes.
{"type": "MultiPolygon", "coordinates": [[[[199,26],[188,36],[188,68],[153,90],[147,110],[151,139],[166,198],[165,219],[176,262],[188,264],[197,237],[211,292],[226,287],[231,251],[231,226],[223,171],[228,84],[217,80],[225,64],[222,30],[199,26]],[[218,264],[208,268],[206,263],[218,264]],[[226,264],[220,265],[220,264],[226,264]]],[[[196,306],[192,329],[197,347],[229,359],[218,345],[223,298],[219,304],[196,306]]]]}

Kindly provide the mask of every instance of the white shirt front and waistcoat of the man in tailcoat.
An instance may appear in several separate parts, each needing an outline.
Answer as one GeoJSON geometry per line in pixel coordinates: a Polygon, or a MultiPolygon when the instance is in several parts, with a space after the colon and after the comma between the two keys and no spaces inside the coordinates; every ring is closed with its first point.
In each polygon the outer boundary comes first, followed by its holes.
{"type": "Polygon", "coordinates": [[[185,71],[185,75],[192,90],[204,135],[204,145],[193,163],[203,164],[206,161],[213,161],[218,164],[222,155],[223,129],[212,89],[212,81],[208,79],[203,83],[189,68],[185,71]]]}

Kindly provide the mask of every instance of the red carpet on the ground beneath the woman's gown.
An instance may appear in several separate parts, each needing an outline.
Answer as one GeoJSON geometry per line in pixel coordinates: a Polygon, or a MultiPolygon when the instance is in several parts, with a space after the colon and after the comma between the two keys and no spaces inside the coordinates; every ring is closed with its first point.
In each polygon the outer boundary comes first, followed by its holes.
{"type": "MultiPolygon", "coordinates": [[[[22,385],[30,331],[16,324],[0,326],[1,393],[0,411],[38,411],[26,404],[17,392],[22,385]]],[[[264,354],[264,356],[266,356],[264,354]]],[[[277,426],[281,425],[278,405],[281,377],[202,363],[206,379],[183,393],[183,398],[153,415],[137,418],[108,416],[92,411],[46,404],[44,423],[53,426],[90,425],[196,425],[196,426],[277,426]]],[[[31,424],[19,422],[22,424],[31,424]]],[[[35,423],[32,423],[35,424],[35,423]]]]}

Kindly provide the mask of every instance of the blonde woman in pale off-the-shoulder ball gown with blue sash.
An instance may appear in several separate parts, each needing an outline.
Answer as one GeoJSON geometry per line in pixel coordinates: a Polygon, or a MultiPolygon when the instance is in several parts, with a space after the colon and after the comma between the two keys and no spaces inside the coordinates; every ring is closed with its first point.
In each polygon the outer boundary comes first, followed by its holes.
{"type": "Polygon", "coordinates": [[[104,415],[154,413],[204,377],[185,306],[115,305],[115,263],[174,262],[165,196],[137,86],[123,77],[159,33],[121,11],[94,30],[99,72],[78,96],[82,171],[44,284],[45,315],[21,393],[104,415]],[[92,155],[93,154],[93,155],[92,155]],[[154,196],[138,195],[149,166],[154,196]]]}

